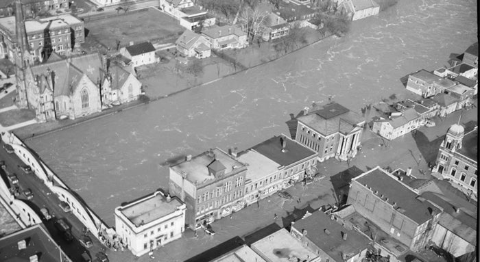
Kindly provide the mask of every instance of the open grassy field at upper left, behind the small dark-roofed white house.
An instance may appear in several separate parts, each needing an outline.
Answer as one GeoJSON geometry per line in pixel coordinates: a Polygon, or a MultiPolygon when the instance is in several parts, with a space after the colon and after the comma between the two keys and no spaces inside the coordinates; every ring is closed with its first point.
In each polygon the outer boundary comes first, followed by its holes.
{"type": "Polygon", "coordinates": [[[124,47],[130,41],[138,43],[178,38],[184,31],[178,21],[154,8],[101,20],[86,20],[85,27],[88,29],[87,38],[112,50],[116,49],[117,40],[120,47],[124,47]]]}

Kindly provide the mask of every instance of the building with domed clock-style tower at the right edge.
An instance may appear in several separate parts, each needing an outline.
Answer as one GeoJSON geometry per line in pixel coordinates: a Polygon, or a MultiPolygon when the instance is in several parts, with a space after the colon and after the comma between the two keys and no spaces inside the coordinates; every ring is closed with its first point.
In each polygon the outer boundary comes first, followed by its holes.
{"type": "Polygon", "coordinates": [[[477,198],[478,128],[465,133],[461,125],[451,126],[440,144],[433,172],[477,198]]]}

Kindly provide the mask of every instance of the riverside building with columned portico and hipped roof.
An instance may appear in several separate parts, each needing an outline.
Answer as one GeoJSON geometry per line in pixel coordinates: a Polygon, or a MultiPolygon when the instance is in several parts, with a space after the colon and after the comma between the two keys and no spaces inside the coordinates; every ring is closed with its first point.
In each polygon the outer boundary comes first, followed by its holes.
{"type": "Polygon", "coordinates": [[[338,103],[313,104],[297,118],[295,140],[318,152],[320,161],[335,157],[341,161],[357,155],[365,120],[338,103]]]}

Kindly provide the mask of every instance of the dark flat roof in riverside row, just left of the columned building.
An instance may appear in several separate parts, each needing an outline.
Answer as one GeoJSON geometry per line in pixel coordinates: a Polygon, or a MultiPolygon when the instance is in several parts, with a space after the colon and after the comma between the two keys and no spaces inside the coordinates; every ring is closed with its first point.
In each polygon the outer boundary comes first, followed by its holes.
{"type": "Polygon", "coordinates": [[[285,135],[276,135],[256,146],[252,146],[252,149],[282,166],[289,166],[316,154],[315,151],[285,135]],[[282,141],[285,142],[285,150],[282,150],[282,141]]]}

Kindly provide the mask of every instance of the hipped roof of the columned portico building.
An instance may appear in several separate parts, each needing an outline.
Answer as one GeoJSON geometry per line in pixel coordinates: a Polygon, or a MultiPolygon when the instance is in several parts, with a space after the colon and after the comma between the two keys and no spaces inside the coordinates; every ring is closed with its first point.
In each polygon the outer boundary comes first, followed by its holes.
{"type": "Polygon", "coordinates": [[[313,105],[309,114],[300,116],[297,120],[325,136],[338,132],[350,133],[357,125],[364,122],[358,114],[337,103],[324,106],[313,105]]]}

